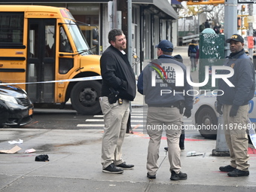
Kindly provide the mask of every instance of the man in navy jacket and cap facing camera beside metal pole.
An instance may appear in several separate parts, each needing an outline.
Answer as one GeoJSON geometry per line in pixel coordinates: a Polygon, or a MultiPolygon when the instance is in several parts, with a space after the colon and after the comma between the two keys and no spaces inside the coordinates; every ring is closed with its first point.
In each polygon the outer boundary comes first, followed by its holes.
{"type": "MultiPolygon", "coordinates": [[[[245,54],[244,39],[238,34],[228,38],[230,44],[230,56],[224,66],[233,68],[234,74],[229,81],[234,87],[230,87],[222,79],[218,83],[218,89],[222,90],[217,96],[217,111],[223,114],[225,137],[230,150],[230,165],[221,166],[221,172],[228,172],[230,177],[248,176],[248,102],[254,96],[254,66],[251,59],[245,54]],[[223,110],[223,111],[222,111],[223,110]]],[[[230,73],[223,70],[222,74],[230,73]]]]}

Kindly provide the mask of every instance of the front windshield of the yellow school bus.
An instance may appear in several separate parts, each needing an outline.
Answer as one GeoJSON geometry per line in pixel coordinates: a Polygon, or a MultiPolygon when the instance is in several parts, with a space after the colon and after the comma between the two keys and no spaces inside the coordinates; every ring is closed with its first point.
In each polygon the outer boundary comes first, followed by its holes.
{"type": "Polygon", "coordinates": [[[90,47],[87,44],[81,29],[72,20],[66,20],[66,24],[68,25],[69,32],[72,35],[78,53],[91,54],[90,47]]]}

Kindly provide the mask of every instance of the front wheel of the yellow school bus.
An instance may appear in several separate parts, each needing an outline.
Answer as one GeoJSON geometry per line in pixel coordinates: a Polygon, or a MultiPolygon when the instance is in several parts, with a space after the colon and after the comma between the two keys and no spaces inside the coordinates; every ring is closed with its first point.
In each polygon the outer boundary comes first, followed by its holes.
{"type": "Polygon", "coordinates": [[[72,107],[80,114],[99,114],[99,96],[102,85],[99,81],[81,81],[72,88],[72,107]]]}

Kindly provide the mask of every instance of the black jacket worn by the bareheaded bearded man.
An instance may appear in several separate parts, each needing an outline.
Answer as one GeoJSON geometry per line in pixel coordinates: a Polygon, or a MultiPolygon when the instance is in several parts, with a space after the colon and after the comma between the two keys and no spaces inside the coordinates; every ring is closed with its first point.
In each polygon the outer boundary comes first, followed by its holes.
{"type": "Polygon", "coordinates": [[[126,54],[109,46],[100,58],[102,96],[108,96],[110,87],[119,92],[119,97],[133,101],[136,96],[136,79],[126,54]]]}

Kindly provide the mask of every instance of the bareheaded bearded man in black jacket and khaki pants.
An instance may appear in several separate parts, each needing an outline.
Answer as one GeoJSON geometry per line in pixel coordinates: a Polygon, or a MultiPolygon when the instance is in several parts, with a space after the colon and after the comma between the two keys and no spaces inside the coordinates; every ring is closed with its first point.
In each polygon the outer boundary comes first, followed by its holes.
{"type": "Polygon", "coordinates": [[[102,171],[122,173],[133,169],[122,159],[122,145],[126,124],[130,114],[130,101],[136,96],[136,79],[126,53],[126,36],[120,29],[108,33],[111,44],[102,53],[100,67],[102,74],[102,96],[100,105],[104,115],[102,138],[102,171]]]}

